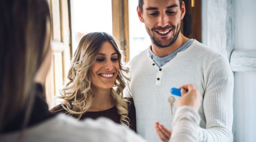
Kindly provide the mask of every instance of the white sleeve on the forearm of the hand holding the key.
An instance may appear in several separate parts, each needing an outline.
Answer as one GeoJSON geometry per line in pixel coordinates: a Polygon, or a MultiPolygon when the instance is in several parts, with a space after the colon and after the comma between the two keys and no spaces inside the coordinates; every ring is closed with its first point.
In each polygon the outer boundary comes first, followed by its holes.
{"type": "Polygon", "coordinates": [[[189,106],[177,109],[169,142],[198,142],[199,114],[189,106]]]}

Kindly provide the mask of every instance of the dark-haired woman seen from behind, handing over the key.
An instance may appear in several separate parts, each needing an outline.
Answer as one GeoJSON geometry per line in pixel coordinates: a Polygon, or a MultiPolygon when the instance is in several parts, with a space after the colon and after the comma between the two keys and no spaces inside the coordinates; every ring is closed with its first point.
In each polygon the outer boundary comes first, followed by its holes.
{"type": "MultiPolygon", "coordinates": [[[[46,0],[4,0],[0,14],[4,17],[0,24],[1,142],[144,141],[125,126],[108,119],[76,121],[49,113],[42,87],[52,54],[48,4],[46,0]]],[[[178,100],[181,106],[193,107],[184,101],[193,104],[199,98],[189,91],[182,95],[178,100]],[[196,97],[184,98],[192,95],[196,97]]],[[[180,120],[176,124],[182,124],[180,120]]],[[[184,132],[179,134],[189,134],[184,132]]]]}

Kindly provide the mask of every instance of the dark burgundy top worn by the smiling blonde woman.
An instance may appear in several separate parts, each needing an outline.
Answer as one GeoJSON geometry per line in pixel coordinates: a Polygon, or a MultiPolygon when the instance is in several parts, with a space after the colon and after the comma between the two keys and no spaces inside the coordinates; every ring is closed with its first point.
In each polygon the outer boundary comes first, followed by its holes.
{"type": "MultiPolygon", "coordinates": [[[[131,102],[131,104],[129,104],[129,106],[128,106],[128,118],[130,119],[130,121],[129,121],[130,126],[129,127],[136,132],[135,106],[134,106],[132,98],[129,98],[128,100],[131,102]]],[[[50,111],[55,113],[55,114],[57,114],[57,113],[67,113],[67,111],[65,109],[63,109],[61,104],[53,107],[50,111]]],[[[77,117],[76,115],[72,115],[72,116],[77,117]]],[[[82,115],[80,120],[83,120],[85,118],[96,119],[98,117],[106,117],[106,118],[109,118],[112,121],[120,124],[120,115],[117,113],[116,106],[113,106],[112,108],[107,109],[107,110],[103,110],[103,111],[87,111],[86,113],[84,113],[82,115]]]]}

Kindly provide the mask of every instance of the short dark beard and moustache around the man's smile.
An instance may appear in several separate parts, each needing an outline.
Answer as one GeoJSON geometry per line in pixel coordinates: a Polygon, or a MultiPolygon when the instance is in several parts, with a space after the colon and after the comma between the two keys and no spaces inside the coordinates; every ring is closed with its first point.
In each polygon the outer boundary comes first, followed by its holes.
{"type": "MultiPolygon", "coordinates": [[[[162,28],[162,27],[155,27],[155,28],[152,28],[151,31],[155,31],[155,30],[157,30],[157,29],[164,31],[165,29],[170,29],[170,28],[172,28],[172,30],[173,30],[173,29],[176,29],[175,26],[167,25],[167,26],[165,26],[164,28],[162,28]]],[[[178,29],[177,29],[177,31],[173,34],[173,38],[171,39],[171,41],[170,41],[169,44],[167,44],[167,45],[161,44],[161,42],[160,42],[157,38],[155,38],[153,35],[150,34],[150,31],[148,31],[148,30],[146,30],[146,31],[147,31],[147,33],[148,33],[150,39],[153,41],[153,43],[154,43],[156,46],[161,47],[161,48],[165,48],[165,47],[171,46],[171,45],[176,41],[176,39],[178,38],[178,35],[179,35],[179,33],[180,33],[180,24],[178,24],[178,29]]]]}

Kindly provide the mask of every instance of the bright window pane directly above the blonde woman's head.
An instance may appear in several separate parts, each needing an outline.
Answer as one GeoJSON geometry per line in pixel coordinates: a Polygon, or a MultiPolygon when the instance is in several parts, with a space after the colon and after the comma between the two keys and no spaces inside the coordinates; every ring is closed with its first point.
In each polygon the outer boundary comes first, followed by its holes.
{"type": "Polygon", "coordinates": [[[107,32],[113,35],[112,0],[72,0],[72,52],[80,39],[89,32],[107,32]]]}

